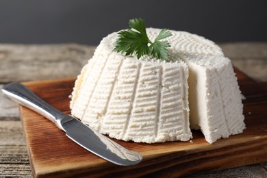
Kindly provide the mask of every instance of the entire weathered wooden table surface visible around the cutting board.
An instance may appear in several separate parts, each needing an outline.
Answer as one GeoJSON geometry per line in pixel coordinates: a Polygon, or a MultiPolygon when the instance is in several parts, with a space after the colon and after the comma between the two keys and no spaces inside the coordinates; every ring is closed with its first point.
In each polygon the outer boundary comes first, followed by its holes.
{"type": "MultiPolygon", "coordinates": [[[[267,42],[219,44],[233,65],[267,81],[267,42]]],[[[0,88],[11,81],[75,77],[94,53],[81,44],[0,44],[0,88]]],[[[188,177],[266,177],[267,163],[188,177]]],[[[0,177],[32,177],[18,107],[0,94],[0,177]]]]}

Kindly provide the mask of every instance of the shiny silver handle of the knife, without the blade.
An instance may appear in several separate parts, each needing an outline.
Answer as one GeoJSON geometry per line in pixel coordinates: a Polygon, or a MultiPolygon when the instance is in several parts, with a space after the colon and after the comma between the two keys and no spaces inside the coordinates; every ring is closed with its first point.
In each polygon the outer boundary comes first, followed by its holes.
{"type": "Polygon", "coordinates": [[[5,94],[5,97],[8,97],[12,101],[38,112],[55,123],[55,125],[57,125],[60,129],[64,130],[61,127],[64,114],[40,99],[36,94],[34,94],[34,92],[29,90],[29,88],[23,84],[18,82],[6,84],[2,88],[2,92],[5,94]]]}

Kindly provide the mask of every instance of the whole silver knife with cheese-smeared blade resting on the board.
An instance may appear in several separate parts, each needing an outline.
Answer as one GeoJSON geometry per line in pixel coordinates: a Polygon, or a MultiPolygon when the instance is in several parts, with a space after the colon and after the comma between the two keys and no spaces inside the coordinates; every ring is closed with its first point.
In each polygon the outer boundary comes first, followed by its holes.
{"type": "MultiPolygon", "coordinates": [[[[59,110],[40,99],[34,92],[21,83],[6,84],[2,88],[5,97],[24,105],[45,118],[51,120],[58,128],[66,132],[66,136],[84,149],[120,166],[130,166],[142,161],[140,153],[129,151],[110,138],[94,131],[73,116],[63,114],[59,110]]],[[[37,121],[36,121],[37,122],[37,121]]]]}

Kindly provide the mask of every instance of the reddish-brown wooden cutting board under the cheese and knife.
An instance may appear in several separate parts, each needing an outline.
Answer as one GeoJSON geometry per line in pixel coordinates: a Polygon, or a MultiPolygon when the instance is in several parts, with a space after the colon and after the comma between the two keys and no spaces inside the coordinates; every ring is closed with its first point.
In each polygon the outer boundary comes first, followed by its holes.
{"type": "MultiPolygon", "coordinates": [[[[114,140],[127,149],[142,153],[136,166],[117,166],[93,155],[68,139],[64,132],[26,107],[20,107],[21,121],[34,177],[179,177],[192,173],[223,170],[267,161],[267,83],[256,83],[236,70],[240,89],[246,97],[244,133],[205,141],[192,131],[190,142],[144,144],[114,140]]],[[[75,79],[24,83],[40,98],[70,114],[69,95],[75,79]]]]}

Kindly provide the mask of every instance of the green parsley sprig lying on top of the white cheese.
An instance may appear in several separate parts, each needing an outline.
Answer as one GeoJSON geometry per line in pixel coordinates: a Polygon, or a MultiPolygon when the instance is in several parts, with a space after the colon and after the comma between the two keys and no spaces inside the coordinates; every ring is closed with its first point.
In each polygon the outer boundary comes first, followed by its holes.
{"type": "Polygon", "coordinates": [[[145,27],[145,21],[142,18],[133,18],[129,20],[131,29],[118,32],[114,51],[125,53],[125,55],[136,55],[141,58],[142,55],[151,55],[160,60],[168,60],[168,47],[170,44],[162,39],[172,36],[168,29],[162,29],[154,42],[149,40],[145,27]]]}

